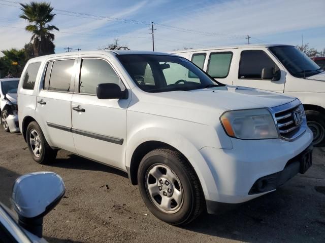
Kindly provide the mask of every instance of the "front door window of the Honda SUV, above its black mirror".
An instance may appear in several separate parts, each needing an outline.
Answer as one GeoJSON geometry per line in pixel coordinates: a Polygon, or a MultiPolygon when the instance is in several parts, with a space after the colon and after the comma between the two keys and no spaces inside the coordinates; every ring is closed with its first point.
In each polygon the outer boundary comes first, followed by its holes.
{"type": "Polygon", "coordinates": [[[105,83],[120,86],[120,78],[111,65],[102,59],[82,59],[79,92],[95,95],[97,86],[105,83]]]}

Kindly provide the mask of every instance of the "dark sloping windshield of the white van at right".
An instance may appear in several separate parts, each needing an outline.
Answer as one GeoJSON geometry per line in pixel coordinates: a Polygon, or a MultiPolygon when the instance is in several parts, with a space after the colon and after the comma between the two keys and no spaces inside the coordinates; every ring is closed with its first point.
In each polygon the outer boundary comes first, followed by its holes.
{"type": "Polygon", "coordinates": [[[316,63],[296,47],[278,46],[269,49],[295,77],[309,77],[323,72],[316,63]]]}

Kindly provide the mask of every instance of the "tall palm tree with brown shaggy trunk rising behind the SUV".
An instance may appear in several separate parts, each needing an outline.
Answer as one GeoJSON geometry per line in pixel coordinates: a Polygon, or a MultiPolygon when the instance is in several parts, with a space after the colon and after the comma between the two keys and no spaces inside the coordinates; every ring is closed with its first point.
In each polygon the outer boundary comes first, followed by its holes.
{"type": "Polygon", "coordinates": [[[26,30],[32,33],[30,41],[33,42],[35,56],[54,53],[54,34],[50,31],[59,30],[55,25],[49,25],[55,16],[53,7],[48,3],[20,4],[23,14],[19,17],[28,21],[26,30]]]}

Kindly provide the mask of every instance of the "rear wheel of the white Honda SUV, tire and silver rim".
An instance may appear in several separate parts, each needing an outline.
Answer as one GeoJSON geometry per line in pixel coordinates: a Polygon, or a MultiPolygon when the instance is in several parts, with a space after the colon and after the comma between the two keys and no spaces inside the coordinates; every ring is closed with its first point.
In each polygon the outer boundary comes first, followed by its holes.
{"type": "Polygon", "coordinates": [[[54,150],[47,143],[42,129],[32,121],[26,130],[26,140],[32,158],[39,164],[50,164],[56,157],[57,150],[54,150]]]}

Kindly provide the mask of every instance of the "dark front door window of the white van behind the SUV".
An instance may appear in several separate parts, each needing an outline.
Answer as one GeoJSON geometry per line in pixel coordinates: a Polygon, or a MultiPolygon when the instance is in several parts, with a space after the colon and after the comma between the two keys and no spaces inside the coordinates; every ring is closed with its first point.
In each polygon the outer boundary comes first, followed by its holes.
{"type": "Polygon", "coordinates": [[[242,51],[238,78],[262,79],[263,68],[273,68],[274,73],[279,71],[279,67],[264,51],[242,51]]]}

